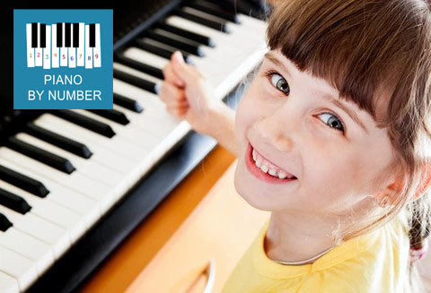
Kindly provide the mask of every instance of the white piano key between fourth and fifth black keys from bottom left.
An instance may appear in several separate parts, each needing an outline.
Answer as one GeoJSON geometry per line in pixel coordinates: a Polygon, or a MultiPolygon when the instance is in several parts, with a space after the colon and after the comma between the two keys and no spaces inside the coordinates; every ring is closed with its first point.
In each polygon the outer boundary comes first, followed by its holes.
{"type": "Polygon", "coordinates": [[[82,172],[86,177],[93,178],[95,180],[99,180],[106,185],[121,185],[122,174],[119,171],[112,170],[110,168],[106,168],[103,165],[99,165],[90,159],[84,159],[75,154],[65,151],[63,149],[58,148],[57,146],[50,144],[48,142],[41,141],[40,139],[31,136],[30,134],[19,133],[15,135],[18,139],[22,140],[22,142],[30,143],[36,147],[39,147],[42,150],[50,151],[57,156],[68,159],[72,165],[75,166],[80,172],[82,172]]]}

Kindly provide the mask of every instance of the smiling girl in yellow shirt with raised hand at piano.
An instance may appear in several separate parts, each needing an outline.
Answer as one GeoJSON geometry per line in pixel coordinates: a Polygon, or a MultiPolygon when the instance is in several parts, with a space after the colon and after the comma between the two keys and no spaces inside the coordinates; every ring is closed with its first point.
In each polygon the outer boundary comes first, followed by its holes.
{"type": "Polygon", "coordinates": [[[179,52],[163,69],[167,110],[235,153],[238,194],[271,211],[223,292],[423,292],[429,2],[279,1],[266,37],[236,113],[179,52]]]}

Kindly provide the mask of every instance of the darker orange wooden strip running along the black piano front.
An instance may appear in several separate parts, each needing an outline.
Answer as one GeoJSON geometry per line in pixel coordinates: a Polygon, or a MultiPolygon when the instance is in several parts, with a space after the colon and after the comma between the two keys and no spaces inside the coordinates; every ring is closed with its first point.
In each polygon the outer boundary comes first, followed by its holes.
{"type": "Polygon", "coordinates": [[[234,159],[217,145],[102,264],[82,292],[118,293],[127,289],[234,159]]]}

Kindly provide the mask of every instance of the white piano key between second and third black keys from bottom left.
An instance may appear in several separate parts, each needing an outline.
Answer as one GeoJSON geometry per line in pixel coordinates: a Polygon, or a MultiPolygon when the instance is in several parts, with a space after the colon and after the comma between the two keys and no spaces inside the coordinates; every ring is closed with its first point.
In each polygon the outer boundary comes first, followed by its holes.
{"type": "Polygon", "coordinates": [[[85,219],[75,211],[69,210],[58,203],[53,203],[47,198],[27,193],[26,191],[0,180],[0,188],[21,196],[31,205],[31,212],[40,218],[48,220],[61,228],[67,230],[72,242],[75,242],[84,234],[86,229],[85,219]]]}

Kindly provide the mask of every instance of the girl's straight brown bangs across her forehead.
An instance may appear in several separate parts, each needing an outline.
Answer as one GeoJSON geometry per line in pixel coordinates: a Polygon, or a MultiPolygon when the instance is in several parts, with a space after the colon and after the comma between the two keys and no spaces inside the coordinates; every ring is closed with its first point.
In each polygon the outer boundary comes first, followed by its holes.
{"type": "Polygon", "coordinates": [[[268,20],[270,50],[280,49],[298,70],[326,80],[377,127],[406,111],[418,71],[430,67],[424,1],[278,3],[268,20]]]}

